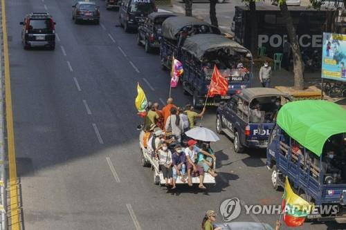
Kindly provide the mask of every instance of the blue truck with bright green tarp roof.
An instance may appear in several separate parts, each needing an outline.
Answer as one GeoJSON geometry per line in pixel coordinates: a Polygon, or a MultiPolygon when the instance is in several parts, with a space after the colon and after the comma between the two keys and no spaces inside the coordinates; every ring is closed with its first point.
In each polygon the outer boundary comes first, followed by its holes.
{"type": "Polygon", "coordinates": [[[293,191],[314,204],[308,219],[346,223],[345,117],[345,109],[331,102],[290,102],[268,139],[273,188],[284,187],[287,177],[293,191]]]}

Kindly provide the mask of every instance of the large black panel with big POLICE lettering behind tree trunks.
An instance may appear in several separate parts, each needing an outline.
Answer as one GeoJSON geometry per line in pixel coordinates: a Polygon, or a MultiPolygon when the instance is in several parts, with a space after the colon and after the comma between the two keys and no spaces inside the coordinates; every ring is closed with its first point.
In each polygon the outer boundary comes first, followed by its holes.
{"type": "MultiPolygon", "coordinates": [[[[326,20],[326,9],[313,10],[302,6],[290,6],[289,12],[293,18],[300,48],[302,50],[321,50],[322,25],[326,20]]],[[[266,48],[266,55],[273,57],[275,52],[283,52],[285,41],[289,41],[286,21],[280,8],[265,3],[256,3],[257,38],[251,35],[251,12],[248,6],[235,6],[232,32],[235,41],[246,48],[251,48],[251,39],[257,39],[258,46],[266,48]]]]}

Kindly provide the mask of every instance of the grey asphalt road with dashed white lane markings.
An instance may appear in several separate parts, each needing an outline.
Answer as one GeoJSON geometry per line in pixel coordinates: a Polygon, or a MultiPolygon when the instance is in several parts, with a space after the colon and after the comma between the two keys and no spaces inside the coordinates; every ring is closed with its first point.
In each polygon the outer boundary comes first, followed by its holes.
{"type": "MultiPolygon", "coordinates": [[[[280,204],[271,189],[265,153],[235,154],[230,140],[212,147],[217,185],[207,192],[154,186],[140,166],[134,98],[140,82],[147,97],[164,102],[168,73],[157,54],[136,46],[118,24],[118,12],[101,6],[101,24],[75,25],[73,1],[7,1],[15,143],[26,230],[200,229],[203,212],[226,198],[246,204],[280,204]],[[45,11],[57,22],[55,51],[21,47],[19,21],[45,11]],[[111,170],[112,169],[112,170],[111,170]]],[[[176,104],[190,102],[181,88],[176,104]]],[[[215,109],[203,125],[215,127],[215,109]]],[[[240,221],[274,224],[277,215],[242,215],[240,221]]],[[[342,227],[339,227],[340,229],[342,227]]],[[[306,224],[304,229],[334,229],[306,224]]]]}

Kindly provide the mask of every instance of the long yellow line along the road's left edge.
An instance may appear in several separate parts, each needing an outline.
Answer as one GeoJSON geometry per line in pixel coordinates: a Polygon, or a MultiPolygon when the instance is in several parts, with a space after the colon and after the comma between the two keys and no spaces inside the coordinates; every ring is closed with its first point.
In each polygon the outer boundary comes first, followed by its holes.
{"type": "Polygon", "coordinates": [[[7,147],[8,147],[8,165],[10,178],[10,205],[9,205],[9,221],[11,229],[21,229],[19,221],[19,205],[18,205],[18,186],[17,186],[17,166],[15,152],[15,133],[13,129],[12,114],[12,95],[10,81],[10,61],[8,57],[8,35],[6,28],[6,6],[5,0],[1,0],[1,19],[2,19],[2,35],[3,35],[3,63],[5,74],[5,101],[6,101],[6,125],[7,125],[7,147]]]}

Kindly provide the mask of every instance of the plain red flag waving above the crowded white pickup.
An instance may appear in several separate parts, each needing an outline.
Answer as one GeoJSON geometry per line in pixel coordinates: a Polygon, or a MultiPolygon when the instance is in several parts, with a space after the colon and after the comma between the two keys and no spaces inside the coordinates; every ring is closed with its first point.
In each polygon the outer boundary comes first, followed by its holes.
{"type": "Polygon", "coordinates": [[[214,71],[212,72],[212,80],[210,82],[208,97],[214,97],[215,95],[227,95],[228,91],[228,81],[226,78],[222,77],[217,66],[214,66],[214,71]]]}

